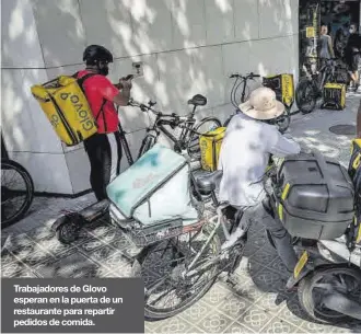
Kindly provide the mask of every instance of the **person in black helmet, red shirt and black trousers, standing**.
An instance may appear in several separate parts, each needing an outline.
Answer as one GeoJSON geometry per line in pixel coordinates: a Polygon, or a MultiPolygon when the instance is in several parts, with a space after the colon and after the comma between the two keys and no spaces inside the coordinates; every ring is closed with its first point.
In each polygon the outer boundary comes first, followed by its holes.
{"type": "Polygon", "coordinates": [[[85,79],[83,89],[98,127],[97,134],[84,140],[84,148],[91,164],[90,183],[96,199],[102,200],[107,197],[106,186],[119,174],[120,169],[119,118],[114,103],[128,104],[131,81],[120,79],[118,84],[113,84],[106,78],[108,64],[113,62],[113,55],[103,46],[86,47],[83,61],[86,68],[79,71],[77,76],[82,78],[94,73],[85,79]]]}

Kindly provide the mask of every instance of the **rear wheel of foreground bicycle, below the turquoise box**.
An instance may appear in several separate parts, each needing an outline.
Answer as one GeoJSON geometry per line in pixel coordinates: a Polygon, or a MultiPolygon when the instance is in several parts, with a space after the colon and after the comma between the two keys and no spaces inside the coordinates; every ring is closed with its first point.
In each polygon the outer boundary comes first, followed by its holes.
{"type": "MultiPolygon", "coordinates": [[[[202,232],[163,240],[145,247],[135,261],[132,277],[144,278],[147,320],[174,316],[194,304],[211,288],[218,276],[217,265],[199,270],[191,278],[182,276],[208,237],[209,232],[203,229],[202,232]]],[[[216,234],[197,263],[213,258],[220,246],[220,239],[216,234]]],[[[197,264],[194,269],[197,269],[197,264]]]]}

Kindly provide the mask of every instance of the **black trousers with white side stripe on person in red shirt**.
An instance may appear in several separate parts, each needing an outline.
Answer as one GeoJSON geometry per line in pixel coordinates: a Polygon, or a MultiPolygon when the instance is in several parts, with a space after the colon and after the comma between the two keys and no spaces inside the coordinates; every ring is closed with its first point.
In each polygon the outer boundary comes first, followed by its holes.
{"type": "Polygon", "coordinates": [[[84,140],[91,164],[90,183],[97,200],[107,198],[106,186],[120,172],[120,134],[95,134],[84,140]]]}

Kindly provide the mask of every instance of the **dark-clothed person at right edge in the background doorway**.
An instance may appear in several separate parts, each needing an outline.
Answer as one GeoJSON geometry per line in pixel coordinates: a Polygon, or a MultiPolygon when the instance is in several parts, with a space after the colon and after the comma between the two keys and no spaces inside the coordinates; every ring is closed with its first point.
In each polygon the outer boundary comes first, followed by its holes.
{"type": "Polygon", "coordinates": [[[358,34],[358,27],[356,23],[350,25],[350,36],[346,45],[345,59],[348,66],[348,71],[351,78],[350,87],[353,84],[354,91],[358,90],[360,85],[359,78],[359,62],[360,62],[360,51],[361,51],[361,37],[358,34]]]}

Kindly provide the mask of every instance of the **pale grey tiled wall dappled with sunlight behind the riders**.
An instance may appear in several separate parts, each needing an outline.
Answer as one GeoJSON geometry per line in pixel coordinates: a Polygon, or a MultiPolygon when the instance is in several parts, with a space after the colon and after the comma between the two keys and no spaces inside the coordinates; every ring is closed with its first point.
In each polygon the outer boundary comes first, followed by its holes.
{"type": "MultiPolygon", "coordinates": [[[[88,189],[82,145],[57,139],[30,92],[34,83],[83,68],[82,51],[102,44],[116,58],[110,78],[143,61],[133,97],[186,114],[196,93],[208,97],[199,117],[221,119],[232,72],[298,74],[299,0],[2,0],[2,131],[10,157],[31,172],[38,192],[88,189]]],[[[150,119],[124,107],[132,152],[150,119]]],[[[126,159],[123,169],[127,166],[126,159]]]]}

